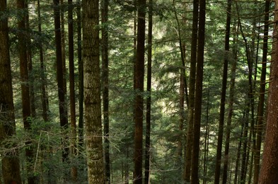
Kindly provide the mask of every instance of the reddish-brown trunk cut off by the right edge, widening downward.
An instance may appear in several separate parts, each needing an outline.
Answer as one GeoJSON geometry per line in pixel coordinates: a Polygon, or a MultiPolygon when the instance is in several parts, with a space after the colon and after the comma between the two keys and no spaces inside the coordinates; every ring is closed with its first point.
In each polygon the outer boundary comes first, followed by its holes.
{"type": "MultiPolygon", "coordinates": [[[[275,1],[275,10],[278,9],[278,1],[275,1]]],[[[265,135],[265,147],[262,155],[262,168],[260,170],[259,183],[277,183],[278,180],[278,13],[274,14],[274,40],[272,46],[272,64],[270,71],[270,90],[267,102],[267,130],[265,135]]]]}

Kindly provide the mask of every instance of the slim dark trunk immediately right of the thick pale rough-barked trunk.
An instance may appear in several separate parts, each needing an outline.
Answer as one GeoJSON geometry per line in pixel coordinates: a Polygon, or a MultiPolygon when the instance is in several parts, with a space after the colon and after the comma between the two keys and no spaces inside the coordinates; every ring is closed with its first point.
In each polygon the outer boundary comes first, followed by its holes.
{"type": "Polygon", "coordinates": [[[109,141],[109,69],[108,69],[108,4],[109,0],[102,1],[101,23],[102,34],[102,61],[103,61],[103,134],[105,156],[105,180],[110,183],[110,141],[109,141]]]}

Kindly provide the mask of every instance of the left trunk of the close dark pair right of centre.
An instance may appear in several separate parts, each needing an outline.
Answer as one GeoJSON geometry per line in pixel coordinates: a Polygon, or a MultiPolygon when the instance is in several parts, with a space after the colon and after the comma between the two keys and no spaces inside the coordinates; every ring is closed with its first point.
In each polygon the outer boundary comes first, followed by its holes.
{"type": "Polygon", "coordinates": [[[194,118],[194,103],[195,103],[195,77],[196,77],[196,60],[197,60],[197,34],[198,34],[198,11],[199,1],[193,1],[193,23],[191,37],[191,57],[190,57],[190,81],[189,81],[189,98],[188,98],[188,123],[185,151],[185,169],[183,180],[190,182],[191,160],[192,160],[192,142],[193,142],[193,118],[194,118]]]}

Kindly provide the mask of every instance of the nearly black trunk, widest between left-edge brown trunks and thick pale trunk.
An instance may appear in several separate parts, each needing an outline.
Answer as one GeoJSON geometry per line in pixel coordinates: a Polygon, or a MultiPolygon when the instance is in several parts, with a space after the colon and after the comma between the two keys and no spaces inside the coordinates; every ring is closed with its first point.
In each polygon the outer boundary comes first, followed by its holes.
{"type": "MultiPolygon", "coordinates": [[[[61,45],[61,23],[60,23],[60,8],[59,0],[53,0],[54,3],[54,28],[55,28],[55,45],[56,45],[56,64],[57,64],[57,83],[59,96],[59,119],[62,129],[69,127],[68,115],[66,112],[65,91],[64,91],[64,77],[62,66],[62,45],[61,45]]],[[[62,145],[66,145],[65,139],[62,139],[62,145]]],[[[69,148],[63,147],[62,159],[67,161],[69,157],[69,148]]]]}

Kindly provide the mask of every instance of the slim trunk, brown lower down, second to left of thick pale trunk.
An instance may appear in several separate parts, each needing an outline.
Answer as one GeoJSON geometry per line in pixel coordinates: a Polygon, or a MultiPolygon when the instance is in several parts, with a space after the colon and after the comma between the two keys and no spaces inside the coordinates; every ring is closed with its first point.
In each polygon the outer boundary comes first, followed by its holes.
{"type": "MultiPolygon", "coordinates": [[[[75,81],[74,81],[74,18],[72,0],[68,0],[68,29],[69,29],[69,100],[71,108],[71,159],[76,156],[76,110],[75,110],[75,81]]],[[[77,180],[77,166],[71,166],[71,180],[77,180]]]]}

